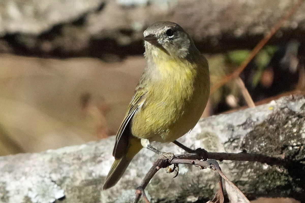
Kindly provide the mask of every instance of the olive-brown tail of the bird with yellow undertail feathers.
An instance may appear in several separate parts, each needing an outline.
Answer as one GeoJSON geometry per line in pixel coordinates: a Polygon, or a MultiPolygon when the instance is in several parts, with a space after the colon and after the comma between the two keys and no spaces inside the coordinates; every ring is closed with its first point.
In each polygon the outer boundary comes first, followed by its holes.
{"type": "Polygon", "coordinates": [[[143,148],[138,138],[132,137],[129,142],[127,153],[112,164],[106,182],[103,185],[103,190],[114,186],[120,180],[132,158],[143,148]]]}

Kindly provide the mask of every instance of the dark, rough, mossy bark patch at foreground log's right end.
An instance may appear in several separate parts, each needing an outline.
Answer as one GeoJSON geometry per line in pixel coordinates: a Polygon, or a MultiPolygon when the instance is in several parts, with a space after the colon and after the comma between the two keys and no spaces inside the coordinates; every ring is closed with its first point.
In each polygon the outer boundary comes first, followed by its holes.
{"type": "MultiPolygon", "coordinates": [[[[292,99],[299,100],[300,98],[292,99]]],[[[242,138],[231,137],[232,145],[226,149],[246,150],[249,153],[260,153],[273,157],[285,157],[285,159],[303,159],[304,146],[304,105],[294,111],[288,107],[282,107],[270,114],[262,123],[254,124],[247,120],[241,126],[253,128],[242,138]]],[[[278,197],[304,192],[304,164],[294,163],[288,167],[268,166],[256,162],[238,162],[232,170],[235,171],[235,183],[245,194],[260,194],[261,196],[278,197]],[[298,172],[296,172],[298,171],[298,172]],[[247,178],[251,176],[252,178],[247,178]],[[251,186],[251,187],[249,187],[251,186]]]]}

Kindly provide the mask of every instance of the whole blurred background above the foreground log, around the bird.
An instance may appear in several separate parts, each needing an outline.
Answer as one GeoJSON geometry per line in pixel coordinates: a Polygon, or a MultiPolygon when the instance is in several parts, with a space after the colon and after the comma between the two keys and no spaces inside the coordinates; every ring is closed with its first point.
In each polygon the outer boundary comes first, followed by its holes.
{"type": "Polygon", "coordinates": [[[285,19],[298,2],[0,1],[0,156],[115,135],[145,67],[143,31],[156,21],[180,24],[209,61],[203,117],[303,94],[305,5],[285,19]]]}

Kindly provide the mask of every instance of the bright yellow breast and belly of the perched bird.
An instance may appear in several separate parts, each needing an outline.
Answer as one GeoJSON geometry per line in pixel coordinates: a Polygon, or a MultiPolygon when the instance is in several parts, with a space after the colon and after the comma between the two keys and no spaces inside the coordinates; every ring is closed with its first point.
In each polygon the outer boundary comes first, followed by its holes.
{"type": "Polygon", "coordinates": [[[196,125],[210,92],[208,68],[196,65],[171,61],[160,66],[164,78],[151,84],[145,103],[132,119],[135,137],[172,142],[196,125]]]}

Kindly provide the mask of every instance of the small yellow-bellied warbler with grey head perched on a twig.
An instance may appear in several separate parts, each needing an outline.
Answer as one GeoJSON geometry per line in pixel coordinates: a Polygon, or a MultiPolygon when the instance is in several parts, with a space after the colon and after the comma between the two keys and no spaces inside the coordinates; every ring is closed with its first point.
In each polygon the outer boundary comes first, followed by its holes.
{"type": "Polygon", "coordinates": [[[117,132],[115,161],[103,189],[114,186],[131,159],[151,142],[174,142],[199,121],[210,94],[206,58],[176,23],[157,22],[144,31],[147,65],[117,132]]]}

